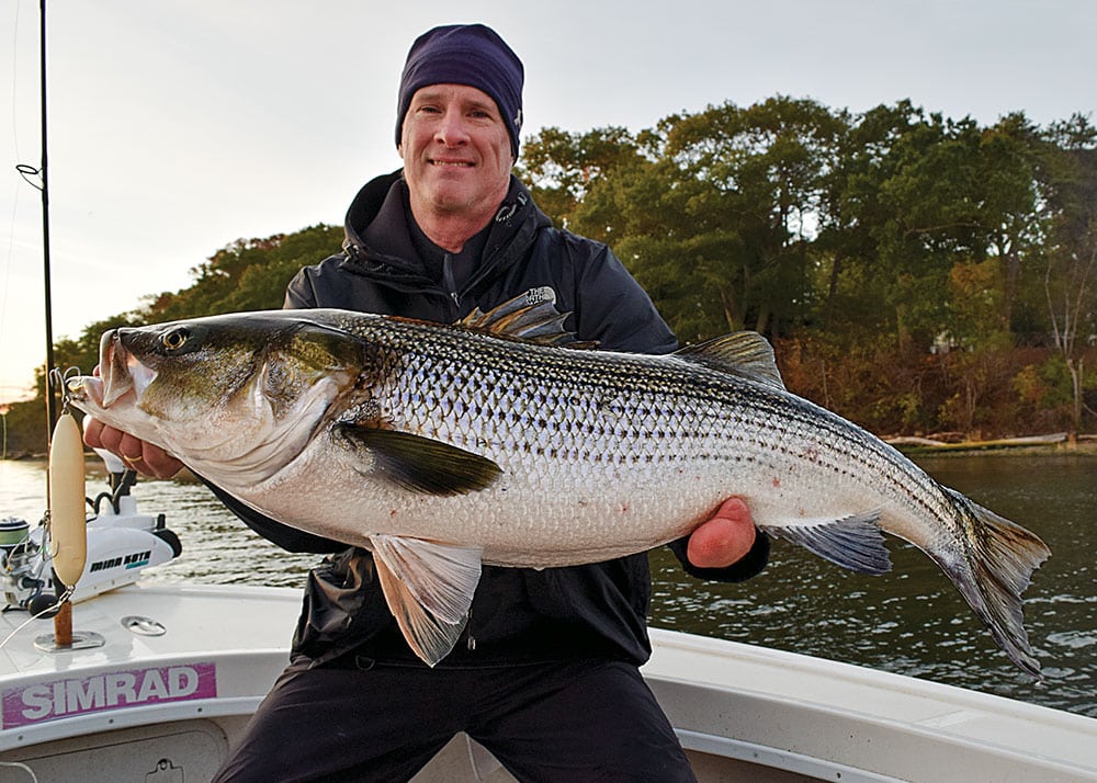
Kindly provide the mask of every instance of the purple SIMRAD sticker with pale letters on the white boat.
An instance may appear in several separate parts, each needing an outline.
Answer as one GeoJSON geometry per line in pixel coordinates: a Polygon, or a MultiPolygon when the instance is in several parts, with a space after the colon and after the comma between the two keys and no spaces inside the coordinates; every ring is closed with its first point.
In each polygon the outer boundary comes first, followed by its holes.
{"type": "Polygon", "coordinates": [[[3,689],[3,728],[217,696],[214,663],[125,669],[3,689]]]}

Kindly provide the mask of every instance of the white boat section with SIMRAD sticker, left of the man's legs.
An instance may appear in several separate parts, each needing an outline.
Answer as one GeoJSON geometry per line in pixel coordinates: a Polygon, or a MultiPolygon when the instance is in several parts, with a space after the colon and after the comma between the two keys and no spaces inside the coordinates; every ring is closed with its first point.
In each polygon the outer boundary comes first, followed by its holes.
{"type": "MultiPolygon", "coordinates": [[[[32,621],[0,650],[0,762],[39,783],[208,780],[285,667],[299,608],[290,589],[132,585],[72,608],[73,635],[103,646],[58,653],[41,649],[53,622],[32,621]]],[[[26,617],[4,613],[3,635],[26,617]]]]}

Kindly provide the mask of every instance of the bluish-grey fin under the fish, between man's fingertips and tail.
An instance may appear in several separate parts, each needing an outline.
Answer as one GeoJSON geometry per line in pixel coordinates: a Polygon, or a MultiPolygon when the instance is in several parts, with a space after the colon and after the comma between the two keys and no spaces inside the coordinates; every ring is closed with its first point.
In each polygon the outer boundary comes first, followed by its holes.
{"type": "Polygon", "coordinates": [[[801,519],[788,524],[758,526],[858,574],[880,575],[891,570],[891,555],[880,530],[879,510],[839,520],[801,519]]]}

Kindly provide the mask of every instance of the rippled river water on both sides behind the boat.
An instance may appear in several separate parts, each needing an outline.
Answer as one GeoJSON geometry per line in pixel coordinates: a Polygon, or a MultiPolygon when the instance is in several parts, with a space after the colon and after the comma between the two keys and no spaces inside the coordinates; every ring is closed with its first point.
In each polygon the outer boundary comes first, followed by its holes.
{"type": "MultiPolygon", "coordinates": [[[[766,571],[742,585],[682,575],[653,555],[652,624],[860,663],[1097,717],[1097,456],[974,455],[920,459],[945,484],[1039,534],[1054,553],[1026,593],[1029,637],[1047,680],[1000,653],[946,577],[891,540],[894,569],[864,577],[774,542],[766,571]]],[[[41,464],[0,462],[0,517],[34,524],[41,464]]],[[[89,477],[89,493],[101,478],[89,477]]],[[[183,555],[150,569],[161,582],[299,587],[315,556],[287,555],[248,532],[201,486],[143,481],[140,508],[162,511],[183,555]]],[[[289,633],[289,628],[286,629],[289,633]]]]}

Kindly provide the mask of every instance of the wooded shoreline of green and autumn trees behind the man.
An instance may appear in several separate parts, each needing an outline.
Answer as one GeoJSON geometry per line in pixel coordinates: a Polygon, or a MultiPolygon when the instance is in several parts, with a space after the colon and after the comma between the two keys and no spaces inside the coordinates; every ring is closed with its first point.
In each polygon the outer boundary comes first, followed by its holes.
{"type": "MultiPolygon", "coordinates": [[[[556,225],[613,248],[683,343],[757,330],[791,390],[872,431],[1097,423],[1086,115],[981,126],[908,101],[852,114],[776,97],[641,132],[544,128],[518,173],[556,225]]],[[[296,270],[341,238],[314,226],[238,240],[189,287],[58,343],[58,364],[94,366],[100,336],[122,324],[280,307],[296,270]]],[[[44,388],[39,372],[39,398],[44,388]]],[[[12,409],[9,451],[24,431],[35,450],[44,422],[21,423],[35,416],[12,409]]]]}

